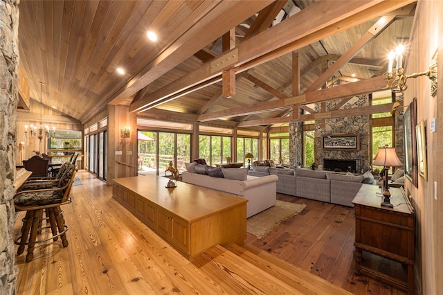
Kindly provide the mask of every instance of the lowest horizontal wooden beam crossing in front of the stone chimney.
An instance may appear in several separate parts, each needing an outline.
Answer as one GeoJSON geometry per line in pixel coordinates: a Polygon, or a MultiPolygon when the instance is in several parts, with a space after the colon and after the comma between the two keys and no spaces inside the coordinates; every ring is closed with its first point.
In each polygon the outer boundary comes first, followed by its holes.
{"type": "Polygon", "coordinates": [[[305,122],[309,120],[321,120],[329,118],[343,118],[349,116],[369,116],[371,114],[383,113],[390,111],[394,105],[394,102],[387,103],[384,105],[369,105],[366,107],[354,107],[351,109],[338,109],[335,111],[323,111],[315,114],[305,114],[296,117],[282,117],[282,118],[267,118],[259,120],[248,120],[239,123],[237,127],[249,127],[258,125],[272,125],[272,124],[282,124],[282,123],[297,123],[305,122]]]}

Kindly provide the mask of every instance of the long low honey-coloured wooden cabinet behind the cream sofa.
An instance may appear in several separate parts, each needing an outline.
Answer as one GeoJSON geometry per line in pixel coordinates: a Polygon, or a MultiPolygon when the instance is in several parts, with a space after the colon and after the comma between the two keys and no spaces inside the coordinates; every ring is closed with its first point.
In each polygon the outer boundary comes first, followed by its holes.
{"type": "Polygon", "coordinates": [[[188,259],[246,238],[246,199],[155,175],[113,181],[113,197],[188,259]]]}

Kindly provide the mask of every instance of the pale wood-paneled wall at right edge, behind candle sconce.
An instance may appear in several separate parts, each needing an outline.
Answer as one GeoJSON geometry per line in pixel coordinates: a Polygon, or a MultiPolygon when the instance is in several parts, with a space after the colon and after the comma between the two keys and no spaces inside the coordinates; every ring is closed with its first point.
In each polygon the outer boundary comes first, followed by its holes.
{"type": "Polygon", "coordinates": [[[418,1],[415,16],[406,73],[426,71],[438,48],[440,87],[432,97],[428,78],[411,78],[404,92],[405,108],[417,98],[417,122],[424,120],[426,125],[428,158],[428,180],[419,176],[418,188],[406,181],[406,193],[412,195],[417,215],[415,275],[418,294],[440,294],[443,289],[443,195],[440,193],[443,174],[439,172],[443,166],[443,2],[418,1]],[[432,118],[437,118],[436,132],[431,132],[432,118]]]}

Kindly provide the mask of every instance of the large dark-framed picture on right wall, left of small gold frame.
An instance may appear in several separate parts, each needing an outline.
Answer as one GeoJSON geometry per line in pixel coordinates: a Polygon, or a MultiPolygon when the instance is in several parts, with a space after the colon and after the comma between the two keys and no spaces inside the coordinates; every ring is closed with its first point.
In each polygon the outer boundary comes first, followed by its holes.
{"type": "Polygon", "coordinates": [[[404,124],[404,173],[418,187],[417,145],[415,126],[417,125],[417,100],[414,98],[403,114],[404,124]]]}

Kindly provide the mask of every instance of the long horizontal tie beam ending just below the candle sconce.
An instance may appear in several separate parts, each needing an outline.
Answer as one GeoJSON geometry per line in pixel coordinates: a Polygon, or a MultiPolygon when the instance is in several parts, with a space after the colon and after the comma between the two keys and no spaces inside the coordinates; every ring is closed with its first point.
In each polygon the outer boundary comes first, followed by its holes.
{"type": "Polygon", "coordinates": [[[300,96],[295,96],[293,98],[272,100],[269,102],[261,102],[257,105],[248,105],[245,107],[226,109],[224,111],[215,111],[210,114],[200,115],[197,120],[207,121],[221,118],[231,118],[235,116],[244,116],[246,114],[262,113],[266,111],[275,111],[277,109],[289,109],[293,105],[307,105],[313,102],[322,102],[348,96],[357,96],[365,93],[380,91],[383,89],[387,89],[386,81],[384,80],[383,76],[380,76],[361,80],[355,83],[341,84],[336,87],[303,93],[300,96]]]}

